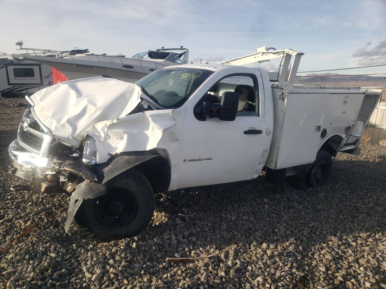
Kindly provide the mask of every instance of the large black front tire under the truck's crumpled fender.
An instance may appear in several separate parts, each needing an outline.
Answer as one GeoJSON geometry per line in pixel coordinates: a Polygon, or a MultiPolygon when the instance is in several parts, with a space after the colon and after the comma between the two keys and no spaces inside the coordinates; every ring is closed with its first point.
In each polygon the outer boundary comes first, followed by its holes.
{"type": "Polygon", "coordinates": [[[107,182],[105,195],[83,200],[75,220],[91,235],[119,240],[140,234],[153,217],[154,205],[147,178],[141,171],[129,170],[107,182]]]}

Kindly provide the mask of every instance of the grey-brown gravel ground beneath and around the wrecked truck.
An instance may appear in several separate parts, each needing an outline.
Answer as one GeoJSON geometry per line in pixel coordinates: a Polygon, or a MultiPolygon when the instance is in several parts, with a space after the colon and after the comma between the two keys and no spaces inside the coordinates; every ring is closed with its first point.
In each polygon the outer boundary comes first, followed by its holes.
{"type": "Polygon", "coordinates": [[[20,181],[6,149],[25,110],[12,102],[0,99],[0,244],[38,224],[0,255],[0,288],[386,288],[383,146],[339,153],[321,188],[261,177],[158,195],[141,235],[100,242],[64,233],[69,195],[9,190],[20,181]]]}

